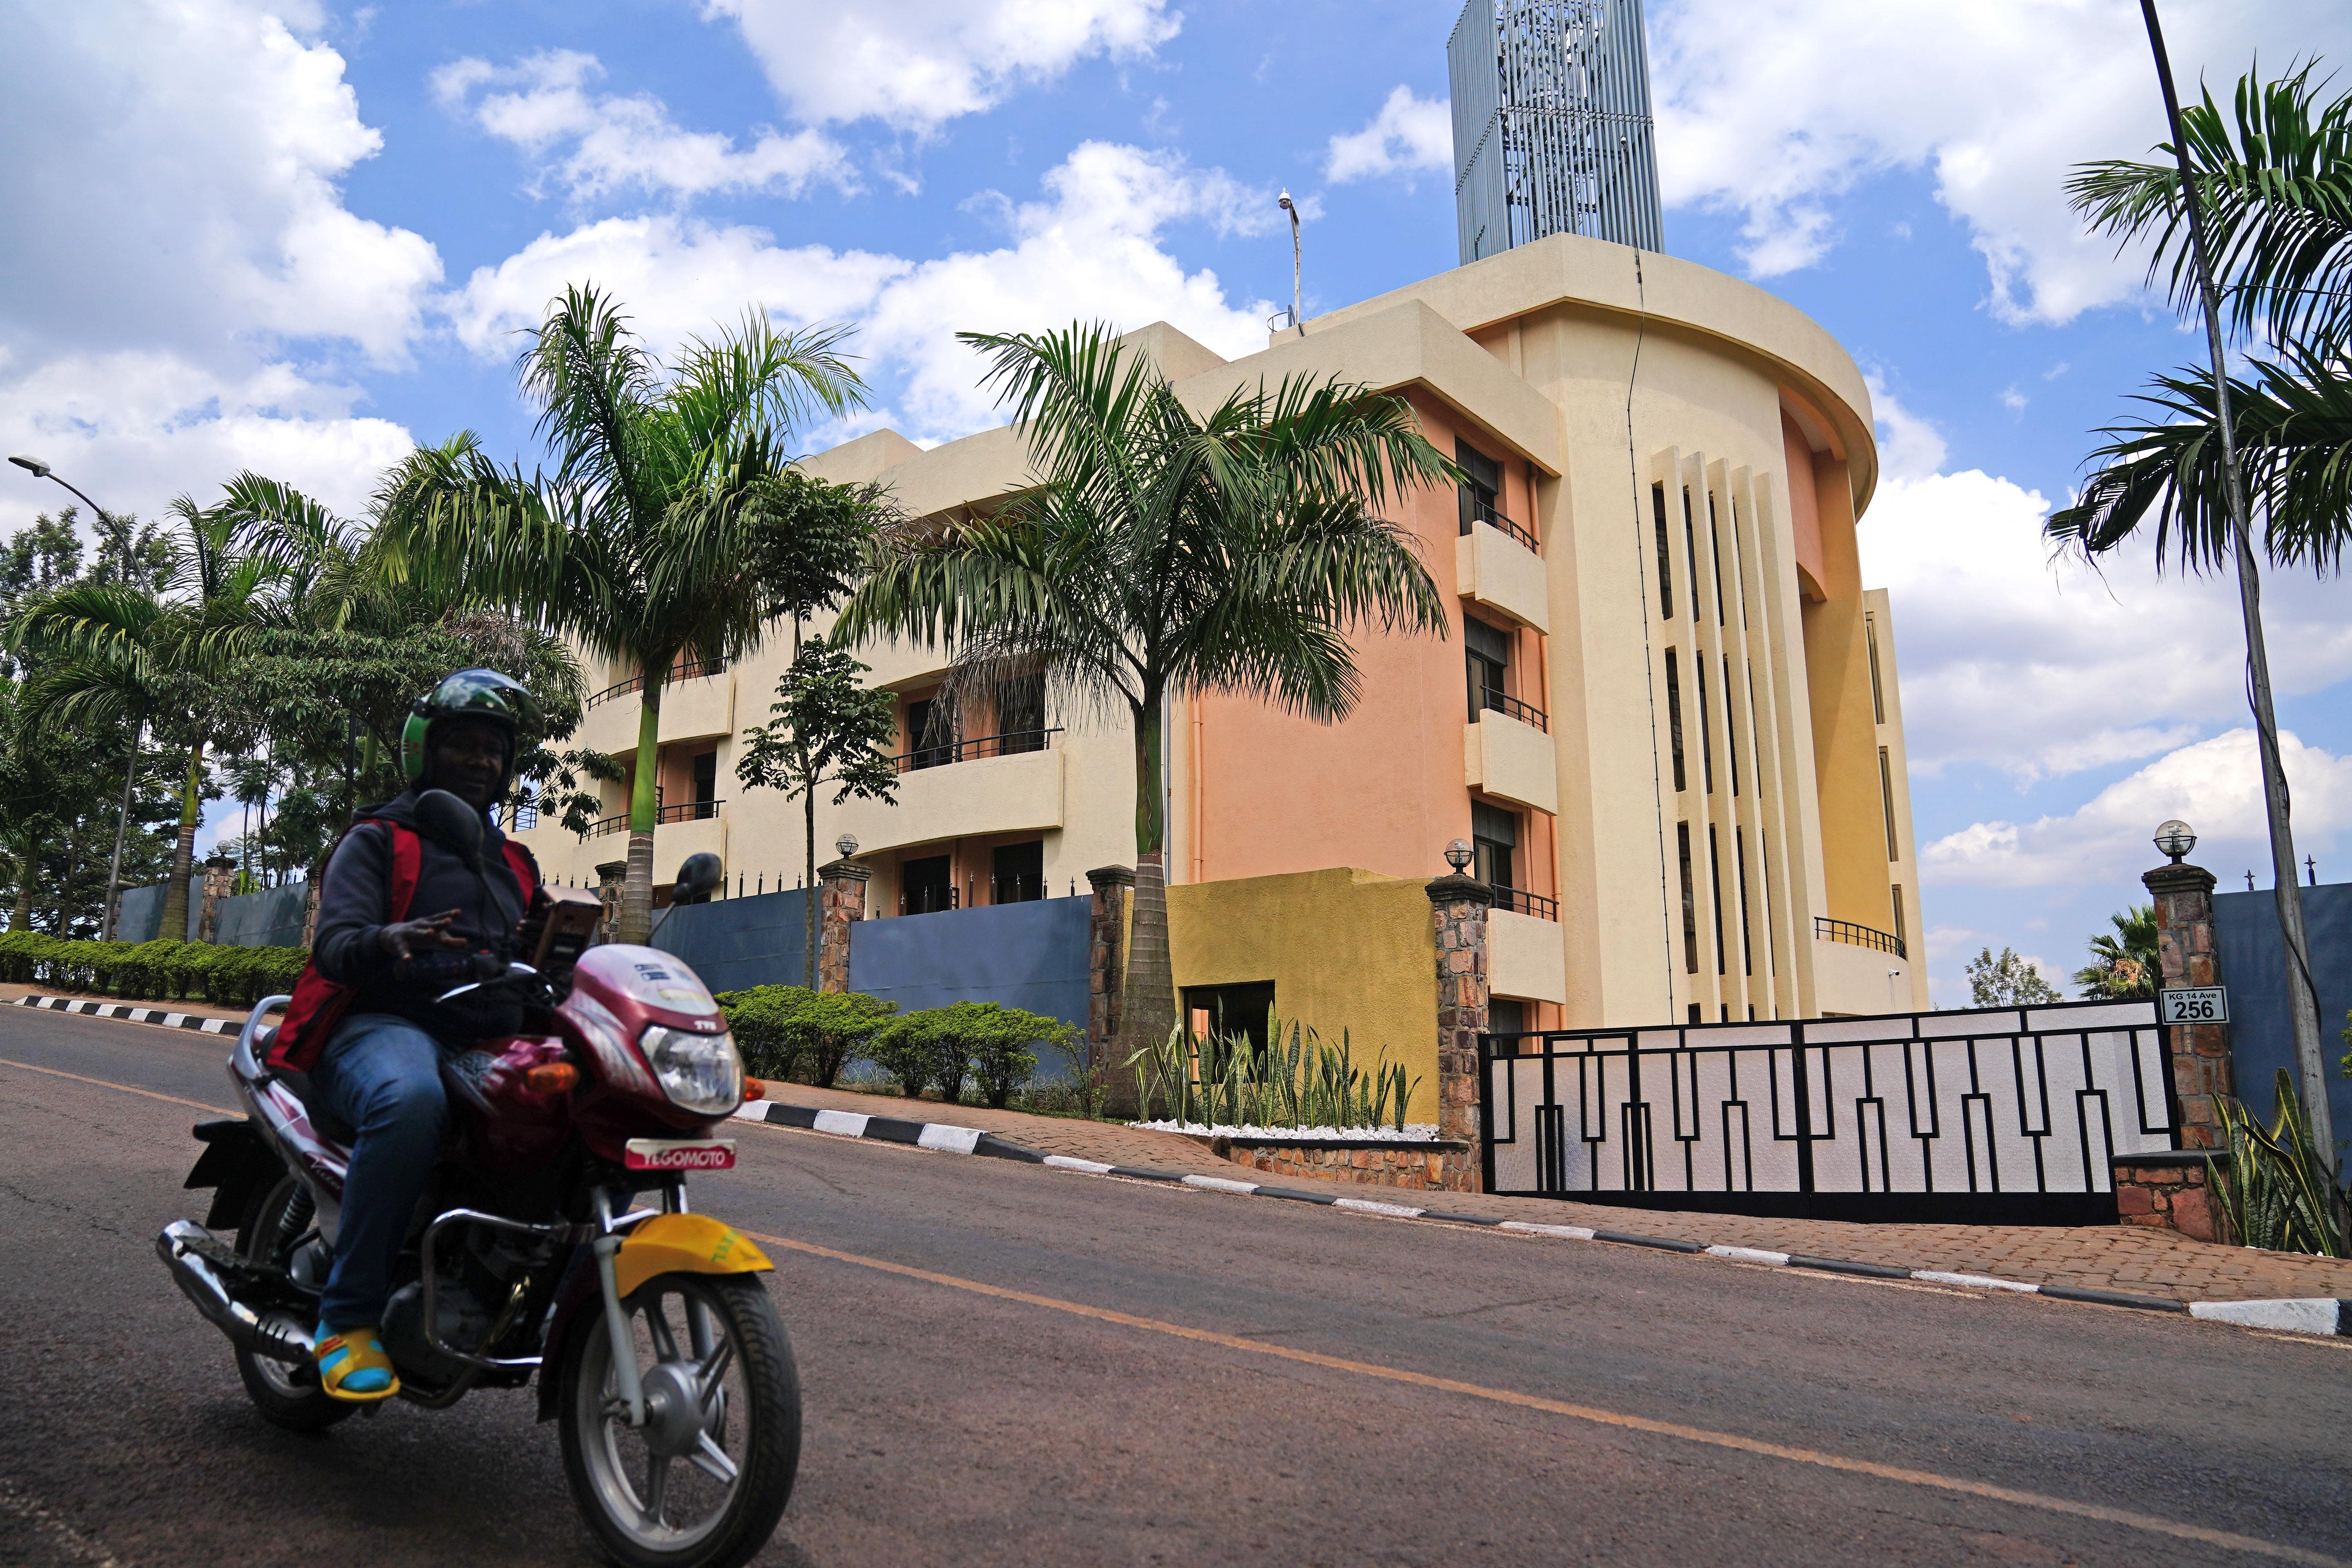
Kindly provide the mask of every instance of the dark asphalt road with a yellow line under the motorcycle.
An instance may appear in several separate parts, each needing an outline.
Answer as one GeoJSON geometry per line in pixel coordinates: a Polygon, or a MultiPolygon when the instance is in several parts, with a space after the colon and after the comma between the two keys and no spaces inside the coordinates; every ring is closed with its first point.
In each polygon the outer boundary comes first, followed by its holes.
{"type": "MultiPolygon", "coordinates": [[[[207,1112],[56,1077],[219,1107],[223,1053],[0,1011],[0,1563],[595,1561],[524,1394],[249,1410],[151,1251],[207,1112]]],[[[800,1244],[762,1563],[2352,1561],[2352,1340],[741,1150],[696,1208],[800,1244]]]]}

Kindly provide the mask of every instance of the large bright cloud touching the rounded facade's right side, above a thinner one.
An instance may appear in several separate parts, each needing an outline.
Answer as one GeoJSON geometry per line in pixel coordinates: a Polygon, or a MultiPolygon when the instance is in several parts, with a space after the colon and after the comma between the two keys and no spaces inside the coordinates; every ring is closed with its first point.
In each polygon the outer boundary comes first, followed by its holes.
{"type": "MultiPolygon", "coordinates": [[[[2032,783],[2244,722],[2234,581],[2159,578],[2140,548],[2105,574],[2051,559],[2046,517],[2044,496],[1980,470],[1879,484],[1863,581],[1891,597],[1915,773],[1980,762],[2032,783]]],[[[2340,585],[2272,576],[2263,616],[2279,691],[2352,675],[2340,585]]]]}

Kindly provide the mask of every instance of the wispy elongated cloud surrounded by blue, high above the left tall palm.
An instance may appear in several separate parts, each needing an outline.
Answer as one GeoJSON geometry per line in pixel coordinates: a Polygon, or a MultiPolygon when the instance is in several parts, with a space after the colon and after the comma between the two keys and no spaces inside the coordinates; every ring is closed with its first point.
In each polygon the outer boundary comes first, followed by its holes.
{"type": "Polygon", "coordinates": [[[576,49],[548,49],[513,66],[468,56],[433,73],[433,96],[541,160],[574,200],[619,190],[800,195],[811,181],[844,190],[856,183],[847,153],[823,132],[762,132],[739,150],[731,136],[680,127],[652,94],[590,92],[602,78],[604,66],[576,49]]]}

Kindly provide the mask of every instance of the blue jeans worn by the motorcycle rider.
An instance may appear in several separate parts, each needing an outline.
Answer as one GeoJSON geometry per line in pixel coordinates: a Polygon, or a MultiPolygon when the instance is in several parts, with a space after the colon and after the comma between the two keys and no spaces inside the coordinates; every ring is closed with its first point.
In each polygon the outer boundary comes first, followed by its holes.
{"type": "Polygon", "coordinates": [[[353,1013],[336,1025],[310,1084],[360,1140],[343,1178],[343,1227],[318,1316],[329,1328],[381,1328],[393,1265],[416,1199],[449,1131],[440,1041],[393,1013],[353,1013]]]}

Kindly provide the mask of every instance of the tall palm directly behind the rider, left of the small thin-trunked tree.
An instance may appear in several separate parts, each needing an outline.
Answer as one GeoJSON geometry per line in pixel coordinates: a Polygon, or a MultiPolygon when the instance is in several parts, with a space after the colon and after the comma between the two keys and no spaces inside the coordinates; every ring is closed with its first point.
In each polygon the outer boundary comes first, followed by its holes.
{"type": "Polygon", "coordinates": [[[793,425],[863,402],[842,339],[746,313],[668,374],[609,296],[564,289],[515,364],[555,470],[449,454],[379,529],[393,581],[508,609],[637,672],[621,940],[652,924],[661,686],[680,656],[741,658],[779,614],[739,545],[750,524],[790,524],[793,425]]]}

